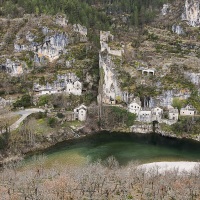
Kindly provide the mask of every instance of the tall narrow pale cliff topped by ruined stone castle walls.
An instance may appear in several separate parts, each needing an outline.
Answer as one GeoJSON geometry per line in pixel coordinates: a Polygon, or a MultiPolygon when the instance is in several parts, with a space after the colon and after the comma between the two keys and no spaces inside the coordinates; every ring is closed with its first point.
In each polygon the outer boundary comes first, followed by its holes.
{"type": "Polygon", "coordinates": [[[123,81],[120,80],[120,66],[123,62],[124,46],[119,44],[113,46],[113,43],[114,36],[110,32],[100,32],[99,69],[101,81],[99,101],[105,104],[128,103],[132,94],[122,89],[121,83],[123,81]]]}

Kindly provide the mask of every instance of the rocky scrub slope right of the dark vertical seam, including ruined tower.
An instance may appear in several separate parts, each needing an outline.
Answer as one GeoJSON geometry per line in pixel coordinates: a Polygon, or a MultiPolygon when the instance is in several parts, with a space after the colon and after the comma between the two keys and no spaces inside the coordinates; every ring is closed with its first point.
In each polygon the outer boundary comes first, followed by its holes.
{"type": "MultiPolygon", "coordinates": [[[[157,23],[118,35],[101,32],[99,97],[106,104],[168,107],[178,98],[191,103],[199,89],[199,1],[164,4],[157,23]]],[[[199,97],[195,97],[199,98],[199,97]]]]}

